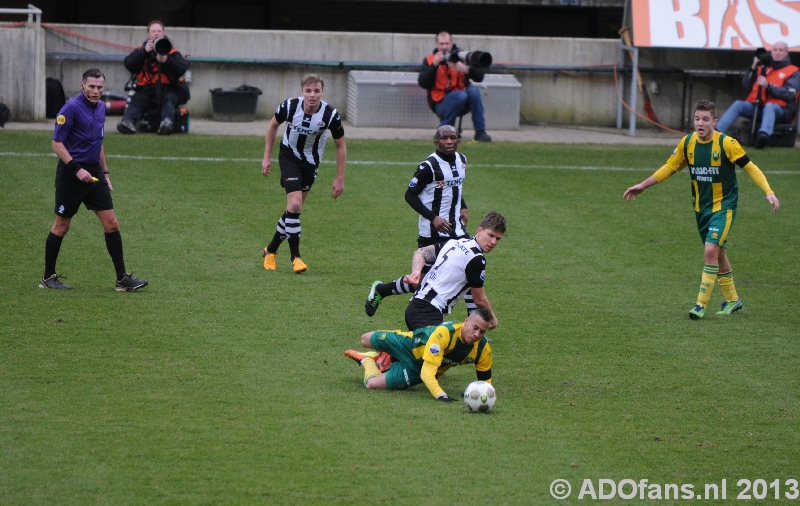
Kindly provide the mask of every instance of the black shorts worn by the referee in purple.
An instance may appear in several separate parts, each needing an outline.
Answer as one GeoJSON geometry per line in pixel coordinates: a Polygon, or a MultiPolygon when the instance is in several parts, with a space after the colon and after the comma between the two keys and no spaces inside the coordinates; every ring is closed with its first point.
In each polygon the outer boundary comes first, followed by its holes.
{"type": "Polygon", "coordinates": [[[81,207],[81,203],[90,211],[107,211],[114,209],[111,190],[108,189],[103,169],[100,165],[81,164],[92,176],[99,179],[96,183],[84,183],[67,169],[67,164],[58,161],[56,167],[56,207],[55,213],[62,218],[72,218],[81,207]]]}

